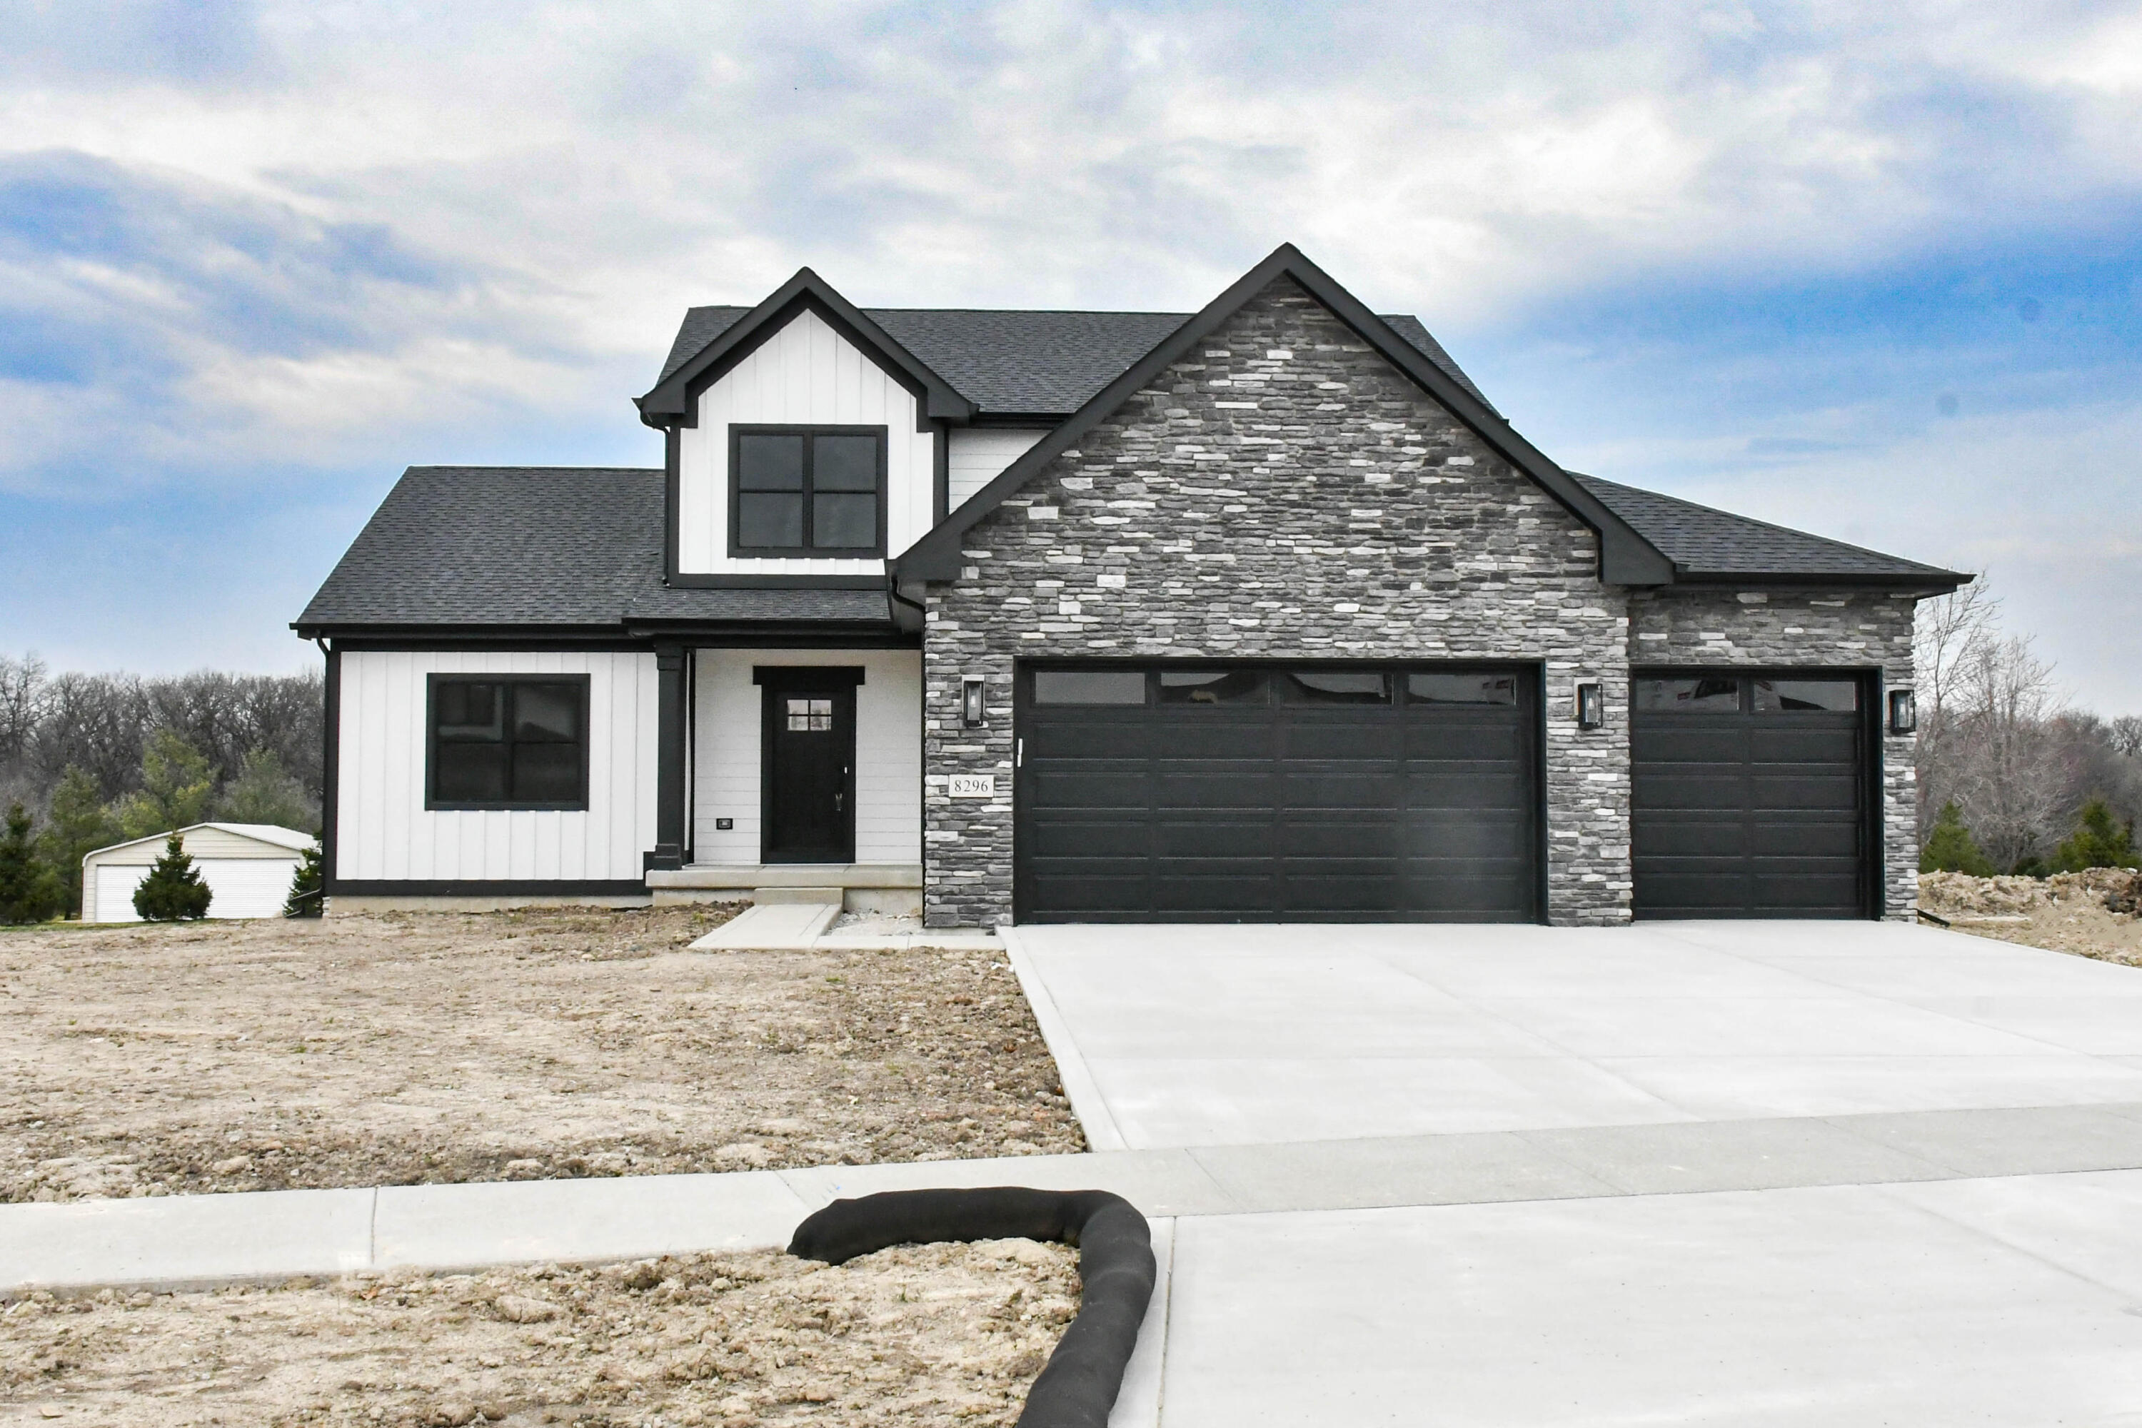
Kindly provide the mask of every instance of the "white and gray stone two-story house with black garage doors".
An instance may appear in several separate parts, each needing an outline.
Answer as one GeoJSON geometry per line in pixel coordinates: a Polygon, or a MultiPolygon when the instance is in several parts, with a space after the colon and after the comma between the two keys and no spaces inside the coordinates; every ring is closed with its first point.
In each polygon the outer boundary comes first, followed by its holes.
{"type": "Polygon", "coordinates": [[[1909,916],[1964,576],[1564,471],[1283,246],[1202,313],[692,308],[660,469],[411,467],[296,621],[330,906],[1909,916]]]}

